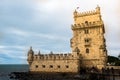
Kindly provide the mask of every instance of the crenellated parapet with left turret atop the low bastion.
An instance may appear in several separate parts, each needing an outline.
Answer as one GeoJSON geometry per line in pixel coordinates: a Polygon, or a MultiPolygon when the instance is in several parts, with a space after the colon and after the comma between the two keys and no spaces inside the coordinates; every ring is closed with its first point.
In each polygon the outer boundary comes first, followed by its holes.
{"type": "Polygon", "coordinates": [[[28,51],[28,62],[33,62],[35,60],[67,60],[75,59],[72,53],[53,53],[52,51],[49,54],[41,54],[40,51],[37,54],[34,54],[32,47],[28,51]]]}

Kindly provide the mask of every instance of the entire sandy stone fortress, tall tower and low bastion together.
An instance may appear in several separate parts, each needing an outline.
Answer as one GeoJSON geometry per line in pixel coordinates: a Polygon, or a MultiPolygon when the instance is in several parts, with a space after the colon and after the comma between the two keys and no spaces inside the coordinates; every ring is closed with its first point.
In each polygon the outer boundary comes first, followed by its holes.
{"type": "Polygon", "coordinates": [[[106,67],[105,28],[100,7],[97,6],[95,10],[88,12],[75,10],[73,16],[73,37],[70,39],[72,52],[35,54],[31,47],[27,58],[30,72],[78,73],[82,67],[106,67]]]}

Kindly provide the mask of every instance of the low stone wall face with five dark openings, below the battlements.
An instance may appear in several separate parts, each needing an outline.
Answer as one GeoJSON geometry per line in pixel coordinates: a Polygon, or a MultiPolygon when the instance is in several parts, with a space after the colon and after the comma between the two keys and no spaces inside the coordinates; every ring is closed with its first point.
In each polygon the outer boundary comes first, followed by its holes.
{"type": "Polygon", "coordinates": [[[33,72],[73,72],[79,71],[79,59],[66,60],[34,60],[30,66],[33,72]]]}

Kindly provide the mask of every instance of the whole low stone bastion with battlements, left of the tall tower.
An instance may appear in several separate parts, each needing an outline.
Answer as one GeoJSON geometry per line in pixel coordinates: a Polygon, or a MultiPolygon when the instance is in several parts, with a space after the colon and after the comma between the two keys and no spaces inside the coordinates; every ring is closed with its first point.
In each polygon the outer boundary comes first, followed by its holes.
{"type": "Polygon", "coordinates": [[[28,55],[28,61],[30,61],[29,69],[31,72],[78,73],[80,69],[80,58],[74,54],[53,54],[53,52],[50,54],[40,54],[40,52],[34,54],[31,48],[28,55]]]}

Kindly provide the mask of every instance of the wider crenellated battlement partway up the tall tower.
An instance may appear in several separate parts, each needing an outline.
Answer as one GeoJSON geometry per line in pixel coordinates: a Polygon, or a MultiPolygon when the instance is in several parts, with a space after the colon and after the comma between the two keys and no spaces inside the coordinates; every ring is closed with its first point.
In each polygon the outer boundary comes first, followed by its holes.
{"type": "Polygon", "coordinates": [[[85,22],[85,23],[80,23],[80,24],[72,24],[71,28],[72,30],[78,29],[78,28],[88,28],[88,27],[96,27],[96,26],[102,26],[103,22],[102,21],[94,21],[94,22],[85,22]]]}

